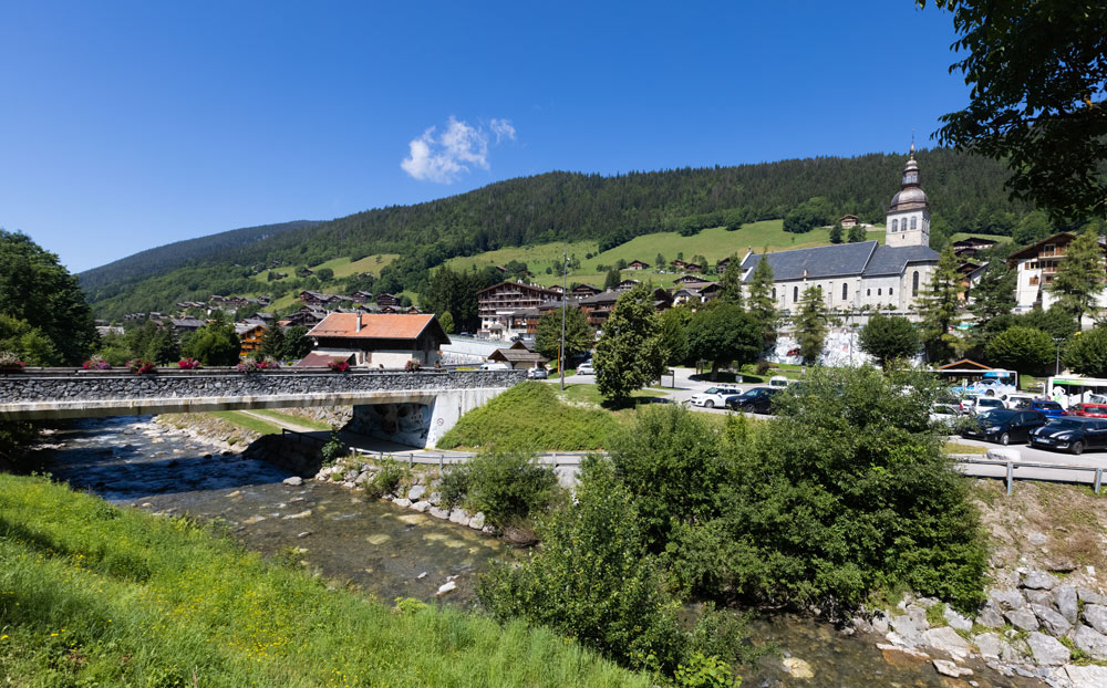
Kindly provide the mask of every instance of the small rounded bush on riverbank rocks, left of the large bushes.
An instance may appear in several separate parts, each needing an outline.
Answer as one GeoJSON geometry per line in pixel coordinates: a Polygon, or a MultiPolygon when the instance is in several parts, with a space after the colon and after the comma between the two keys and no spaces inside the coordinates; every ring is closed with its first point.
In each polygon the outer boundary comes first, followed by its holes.
{"type": "Polygon", "coordinates": [[[469,505],[498,528],[528,519],[554,498],[554,469],[527,454],[480,454],[466,466],[469,505]]]}

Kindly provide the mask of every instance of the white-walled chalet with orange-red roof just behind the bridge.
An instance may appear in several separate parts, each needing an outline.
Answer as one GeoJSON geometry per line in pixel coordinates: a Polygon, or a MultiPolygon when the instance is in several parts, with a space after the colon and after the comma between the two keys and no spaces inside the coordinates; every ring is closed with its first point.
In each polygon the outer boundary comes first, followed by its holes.
{"type": "Polygon", "coordinates": [[[449,344],[433,314],[331,313],[308,332],[317,354],[353,355],[359,367],[403,368],[410,362],[437,364],[441,347],[449,344]]]}

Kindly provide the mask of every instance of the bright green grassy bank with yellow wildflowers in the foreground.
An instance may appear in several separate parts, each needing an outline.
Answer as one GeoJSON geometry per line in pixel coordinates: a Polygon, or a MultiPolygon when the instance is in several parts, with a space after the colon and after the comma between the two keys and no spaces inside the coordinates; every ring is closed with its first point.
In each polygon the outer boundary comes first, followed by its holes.
{"type": "Polygon", "coordinates": [[[651,685],[523,623],[402,608],[187,520],[0,475],[0,675],[10,685],[651,685]]]}

